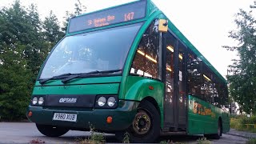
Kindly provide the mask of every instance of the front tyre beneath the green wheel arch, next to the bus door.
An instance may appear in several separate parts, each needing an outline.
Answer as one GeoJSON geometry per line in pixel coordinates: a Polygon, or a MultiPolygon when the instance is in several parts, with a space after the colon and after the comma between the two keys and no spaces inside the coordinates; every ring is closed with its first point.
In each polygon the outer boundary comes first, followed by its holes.
{"type": "Polygon", "coordinates": [[[120,142],[128,134],[130,142],[154,142],[160,134],[160,115],[154,105],[148,101],[138,106],[134,121],[127,130],[116,133],[120,142]]]}

